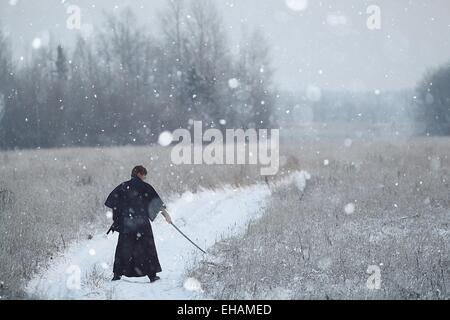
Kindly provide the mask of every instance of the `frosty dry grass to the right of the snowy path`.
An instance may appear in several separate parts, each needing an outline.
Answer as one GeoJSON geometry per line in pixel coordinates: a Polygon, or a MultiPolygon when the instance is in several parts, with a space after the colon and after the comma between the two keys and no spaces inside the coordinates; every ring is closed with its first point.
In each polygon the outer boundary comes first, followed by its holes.
{"type": "Polygon", "coordinates": [[[245,236],[217,243],[188,275],[219,299],[448,299],[449,146],[435,138],[291,147],[283,154],[312,176],[305,191],[274,190],[245,236]],[[369,265],[381,269],[380,290],[366,286],[369,265]]]}

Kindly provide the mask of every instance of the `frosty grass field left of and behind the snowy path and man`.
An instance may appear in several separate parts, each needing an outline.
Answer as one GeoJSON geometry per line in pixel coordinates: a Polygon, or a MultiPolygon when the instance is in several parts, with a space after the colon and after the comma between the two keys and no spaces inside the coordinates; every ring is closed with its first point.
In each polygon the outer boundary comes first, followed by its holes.
{"type": "MultiPolygon", "coordinates": [[[[170,148],[160,146],[0,152],[0,299],[26,298],[37,270],[71,243],[103,234],[106,196],[139,163],[165,200],[265,183],[257,166],[173,166],[170,148]]],[[[288,161],[279,176],[295,169],[288,161]]]]}

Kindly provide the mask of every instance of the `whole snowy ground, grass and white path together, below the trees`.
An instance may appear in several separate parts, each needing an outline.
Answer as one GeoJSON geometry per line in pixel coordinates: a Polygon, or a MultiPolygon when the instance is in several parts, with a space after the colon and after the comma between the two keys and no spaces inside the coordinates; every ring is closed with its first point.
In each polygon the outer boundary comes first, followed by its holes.
{"type": "Polygon", "coordinates": [[[282,145],[280,174],[267,181],[252,166],[170,166],[159,147],[0,153],[0,295],[446,298],[449,145],[305,140],[282,145]],[[136,163],[147,165],[174,222],[208,255],[160,217],[153,230],[162,280],[111,283],[117,234],[104,236],[103,202],[136,163]],[[310,174],[306,186],[278,184],[301,170],[310,174]],[[380,290],[366,287],[373,265],[380,290]]]}

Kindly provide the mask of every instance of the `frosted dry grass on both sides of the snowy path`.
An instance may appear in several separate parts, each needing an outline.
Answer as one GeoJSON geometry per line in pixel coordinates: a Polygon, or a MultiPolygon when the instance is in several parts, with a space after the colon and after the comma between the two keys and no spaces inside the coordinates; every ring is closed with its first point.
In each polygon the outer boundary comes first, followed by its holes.
{"type": "MultiPolygon", "coordinates": [[[[449,145],[430,138],[282,146],[280,175],[308,170],[305,193],[274,190],[267,214],[244,238],[217,244],[223,263],[198,265],[190,274],[222,298],[448,297],[449,145]],[[356,211],[346,215],[351,201],[356,211]],[[367,266],[380,263],[382,290],[367,290],[367,266]]],[[[0,296],[27,298],[23,284],[39,266],[70,242],[104,232],[104,198],[135,164],[149,169],[149,182],[164,198],[264,181],[256,166],[171,166],[169,151],[0,153],[0,296]]],[[[102,279],[87,277],[93,278],[102,279]]]]}

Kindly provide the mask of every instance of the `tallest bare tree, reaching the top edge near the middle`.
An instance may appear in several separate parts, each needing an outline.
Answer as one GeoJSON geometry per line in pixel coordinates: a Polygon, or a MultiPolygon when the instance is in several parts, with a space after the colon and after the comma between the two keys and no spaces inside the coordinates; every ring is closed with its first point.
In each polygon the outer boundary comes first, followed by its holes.
{"type": "Polygon", "coordinates": [[[189,92],[195,114],[215,126],[226,115],[231,69],[228,39],[214,3],[191,1],[189,9],[184,48],[189,64],[189,92]]]}

